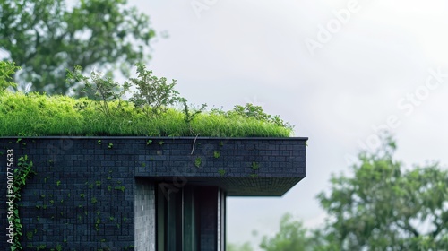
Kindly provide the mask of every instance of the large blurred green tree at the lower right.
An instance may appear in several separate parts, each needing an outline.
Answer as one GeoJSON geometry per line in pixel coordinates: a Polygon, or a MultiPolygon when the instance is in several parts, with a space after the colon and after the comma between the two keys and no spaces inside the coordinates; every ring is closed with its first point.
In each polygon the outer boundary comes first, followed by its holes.
{"type": "Polygon", "coordinates": [[[447,250],[448,171],[403,169],[389,137],[358,155],[353,177],[332,176],[318,199],[328,213],[326,250],[447,250]]]}

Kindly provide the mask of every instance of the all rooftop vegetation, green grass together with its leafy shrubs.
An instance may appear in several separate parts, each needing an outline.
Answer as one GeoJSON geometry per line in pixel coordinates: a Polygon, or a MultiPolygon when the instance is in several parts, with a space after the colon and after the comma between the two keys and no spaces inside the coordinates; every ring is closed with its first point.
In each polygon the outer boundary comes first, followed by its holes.
{"type": "Polygon", "coordinates": [[[120,84],[75,66],[67,84],[85,97],[17,91],[10,75],[17,67],[0,62],[0,136],[134,135],[288,137],[292,126],[263,108],[246,104],[232,110],[192,108],[175,90],[176,81],[137,65],[136,78],[120,84]],[[125,100],[125,95],[132,97],[125,100]]]}

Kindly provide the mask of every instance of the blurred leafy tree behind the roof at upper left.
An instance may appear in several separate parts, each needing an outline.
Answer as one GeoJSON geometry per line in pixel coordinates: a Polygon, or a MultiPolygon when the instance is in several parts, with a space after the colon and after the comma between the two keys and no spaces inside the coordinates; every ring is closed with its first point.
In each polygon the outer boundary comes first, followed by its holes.
{"type": "Polygon", "coordinates": [[[65,69],[116,69],[127,74],[155,36],[149,17],[127,0],[0,0],[0,49],[32,82],[31,91],[66,94],[65,69]],[[73,3],[73,2],[71,2],[73,3]]]}

